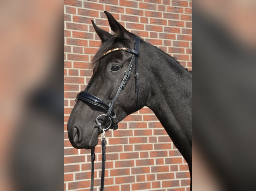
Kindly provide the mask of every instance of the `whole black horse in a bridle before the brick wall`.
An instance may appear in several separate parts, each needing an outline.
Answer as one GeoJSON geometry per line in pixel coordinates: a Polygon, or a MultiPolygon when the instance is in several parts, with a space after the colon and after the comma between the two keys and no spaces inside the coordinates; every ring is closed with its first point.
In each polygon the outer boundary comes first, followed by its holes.
{"type": "Polygon", "coordinates": [[[102,129],[110,126],[116,129],[117,120],[148,106],[186,160],[191,178],[192,74],[173,57],[128,32],[110,13],[105,11],[105,14],[115,34],[98,28],[92,21],[102,45],[92,61],[93,76],[85,91],[78,95],[70,114],[71,144],[75,148],[94,148],[102,129]],[[130,67],[132,62],[134,69],[130,67]],[[127,68],[135,71],[135,80],[128,83],[127,68]],[[126,88],[120,83],[127,83],[126,88]],[[100,115],[106,117],[102,119],[100,115]]]}

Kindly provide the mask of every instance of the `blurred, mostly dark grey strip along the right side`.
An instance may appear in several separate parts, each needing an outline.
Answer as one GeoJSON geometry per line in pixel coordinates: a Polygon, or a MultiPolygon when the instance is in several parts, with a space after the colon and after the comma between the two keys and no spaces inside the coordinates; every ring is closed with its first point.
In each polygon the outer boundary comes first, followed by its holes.
{"type": "Polygon", "coordinates": [[[255,14],[193,1],[193,190],[255,190],[255,14]]]}

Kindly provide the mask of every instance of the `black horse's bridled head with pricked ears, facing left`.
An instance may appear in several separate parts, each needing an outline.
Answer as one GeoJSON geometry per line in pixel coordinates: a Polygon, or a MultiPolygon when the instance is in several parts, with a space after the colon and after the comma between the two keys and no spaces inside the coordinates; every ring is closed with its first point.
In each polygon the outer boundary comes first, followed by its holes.
{"type": "Polygon", "coordinates": [[[145,69],[142,69],[143,58],[139,57],[140,38],[128,32],[109,12],[105,11],[105,14],[115,34],[100,29],[92,21],[102,45],[92,60],[92,78],[85,91],[78,95],[68,121],[69,139],[75,148],[95,147],[103,129],[116,129],[117,121],[142,108],[150,94],[150,84],[143,80],[148,77],[145,69]],[[131,67],[131,63],[137,62],[136,59],[139,61],[140,77],[145,77],[140,80],[143,91],[140,91],[139,96],[138,76],[137,80],[127,80],[131,73],[135,74],[137,66],[131,67]]]}

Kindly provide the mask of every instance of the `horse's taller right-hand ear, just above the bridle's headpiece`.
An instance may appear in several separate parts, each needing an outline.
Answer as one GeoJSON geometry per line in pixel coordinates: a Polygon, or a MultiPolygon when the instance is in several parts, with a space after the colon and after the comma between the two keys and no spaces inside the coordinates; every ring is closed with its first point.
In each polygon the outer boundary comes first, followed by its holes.
{"type": "Polygon", "coordinates": [[[113,15],[111,15],[108,11],[104,11],[104,13],[107,15],[109,25],[112,31],[116,33],[116,36],[126,39],[133,39],[132,34],[127,31],[119,22],[117,22],[113,15]]]}

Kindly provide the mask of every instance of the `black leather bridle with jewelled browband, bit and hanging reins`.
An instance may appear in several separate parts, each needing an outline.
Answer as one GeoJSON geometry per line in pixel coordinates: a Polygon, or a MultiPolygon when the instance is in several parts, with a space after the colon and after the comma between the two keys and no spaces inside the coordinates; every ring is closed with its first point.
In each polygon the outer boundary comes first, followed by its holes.
{"type": "MultiPolygon", "coordinates": [[[[106,141],[107,138],[105,138],[105,131],[108,130],[109,128],[116,130],[118,129],[118,119],[116,117],[116,113],[113,111],[113,107],[116,103],[116,100],[120,94],[120,92],[126,87],[131,75],[132,75],[132,69],[133,66],[135,65],[135,94],[136,94],[136,99],[135,99],[135,108],[134,111],[136,111],[137,108],[137,103],[138,103],[138,92],[139,92],[139,74],[138,74],[138,58],[139,58],[139,48],[140,48],[140,40],[134,36],[134,49],[129,49],[129,48],[115,48],[112,50],[107,51],[102,55],[102,57],[106,56],[107,54],[110,54],[115,51],[126,51],[131,54],[133,54],[132,59],[130,61],[130,64],[125,71],[124,77],[120,83],[120,86],[118,88],[118,91],[115,95],[115,97],[111,100],[109,104],[105,103],[102,101],[100,98],[96,97],[95,95],[92,95],[88,92],[80,92],[77,95],[76,101],[81,100],[86,103],[91,103],[93,105],[96,105],[100,108],[103,108],[106,111],[106,114],[99,115],[100,116],[105,116],[104,121],[107,121],[110,119],[110,125],[107,128],[102,128],[101,123],[98,121],[98,117],[96,118],[96,123],[99,125],[99,128],[103,131],[103,136],[101,139],[101,146],[102,146],[102,170],[101,170],[101,191],[104,189],[104,177],[105,177],[105,161],[106,161],[106,141]]],[[[94,183],[94,160],[95,160],[95,150],[94,148],[91,149],[91,155],[92,155],[92,174],[91,174],[91,191],[93,191],[93,183],[94,183]]]]}

